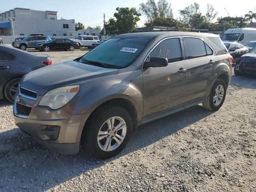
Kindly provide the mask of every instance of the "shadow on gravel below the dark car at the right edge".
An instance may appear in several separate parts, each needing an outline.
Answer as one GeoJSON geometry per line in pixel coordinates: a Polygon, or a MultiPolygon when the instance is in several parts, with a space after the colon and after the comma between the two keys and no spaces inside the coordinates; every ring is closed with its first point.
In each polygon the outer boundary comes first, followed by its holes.
{"type": "Polygon", "coordinates": [[[256,76],[250,75],[233,75],[230,86],[256,89],[256,76]]]}

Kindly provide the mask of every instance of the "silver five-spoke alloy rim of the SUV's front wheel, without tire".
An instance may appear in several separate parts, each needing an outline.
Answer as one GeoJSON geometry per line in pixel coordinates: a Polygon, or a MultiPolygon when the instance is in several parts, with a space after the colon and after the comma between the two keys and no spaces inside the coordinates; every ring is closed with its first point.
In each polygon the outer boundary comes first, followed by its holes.
{"type": "Polygon", "coordinates": [[[126,130],[126,122],[123,118],[118,116],[109,118],[98,132],[98,146],[106,152],[115,150],[124,141],[126,130]]]}

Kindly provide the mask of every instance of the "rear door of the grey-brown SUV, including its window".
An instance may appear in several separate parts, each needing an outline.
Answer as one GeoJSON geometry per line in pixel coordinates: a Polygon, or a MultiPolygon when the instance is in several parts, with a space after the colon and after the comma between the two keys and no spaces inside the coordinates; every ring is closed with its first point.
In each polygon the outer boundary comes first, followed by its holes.
{"type": "Polygon", "coordinates": [[[188,100],[200,100],[207,94],[207,83],[213,67],[218,64],[218,58],[214,50],[200,38],[184,37],[183,41],[188,64],[188,100]]]}

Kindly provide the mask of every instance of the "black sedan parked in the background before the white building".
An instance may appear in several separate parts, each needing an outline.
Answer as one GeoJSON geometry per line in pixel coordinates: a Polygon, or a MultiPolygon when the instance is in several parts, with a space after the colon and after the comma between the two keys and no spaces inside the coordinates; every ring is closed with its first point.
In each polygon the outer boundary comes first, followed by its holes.
{"type": "Polygon", "coordinates": [[[50,51],[50,50],[74,51],[77,48],[79,48],[78,42],[74,42],[70,39],[52,39],[45,43],[36,44],[36,49],[40,51],[50,51]]]}

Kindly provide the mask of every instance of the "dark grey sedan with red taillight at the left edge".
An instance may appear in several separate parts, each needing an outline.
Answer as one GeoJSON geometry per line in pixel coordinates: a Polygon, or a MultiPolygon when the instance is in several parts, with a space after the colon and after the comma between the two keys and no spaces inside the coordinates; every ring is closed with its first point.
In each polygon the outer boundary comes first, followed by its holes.
{"type": "Polygon", "coordinates": [[[52,61],[46,54],[34,55],[0,45],[0,94],[10,102],[14,102],[20,78],[33,70],[51,64],[52,61]]]}

